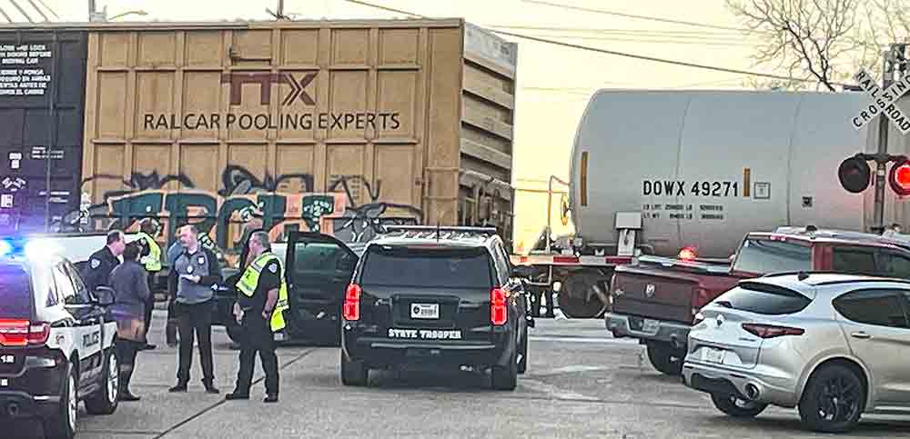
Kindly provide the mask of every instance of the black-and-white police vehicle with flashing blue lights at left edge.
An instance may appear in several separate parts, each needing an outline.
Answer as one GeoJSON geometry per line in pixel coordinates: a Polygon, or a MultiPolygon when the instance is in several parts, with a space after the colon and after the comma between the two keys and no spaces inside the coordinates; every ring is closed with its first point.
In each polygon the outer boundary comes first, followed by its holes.
{"type": "Polygon", "coordinates": [[[80,401],[113,414],[119,400],[113,294],[86,291],[52,245],[0,240],[0,419],[37,417],[49,437],[72,438],[80,401]]]}

